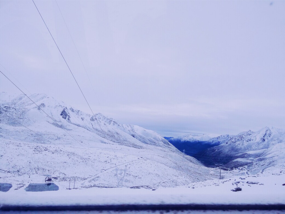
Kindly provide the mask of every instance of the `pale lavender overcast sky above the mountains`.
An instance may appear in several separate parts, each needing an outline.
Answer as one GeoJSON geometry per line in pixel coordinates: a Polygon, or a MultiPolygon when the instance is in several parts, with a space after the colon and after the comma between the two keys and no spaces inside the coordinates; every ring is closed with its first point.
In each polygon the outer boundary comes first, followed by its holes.
{"type": "MultiPolygon", "coordinates": [[[[285,1],[58,1],[92,85],[56,1],[35,3],[93,112],[163,136],[285,128],[285,1]]],[[[32,1],[0,1],[0,69],[91,113],[32,1]]]]}

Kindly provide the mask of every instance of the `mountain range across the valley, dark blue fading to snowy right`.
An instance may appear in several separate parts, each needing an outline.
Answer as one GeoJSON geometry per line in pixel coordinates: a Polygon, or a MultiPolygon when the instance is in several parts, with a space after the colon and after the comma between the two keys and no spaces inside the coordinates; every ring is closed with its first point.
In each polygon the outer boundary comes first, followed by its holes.
{"type": "Polygon", "coordinates": [[[207,167],[218,164],[227,169],[243,166],[254,169],[257,165],[262,168],[277,162],[274,157],[280,156],[282,149],[276,148],[285,147],[285,130],[265,127],[257,132],[249,130],[236,136],[223,135],[206,141],[185,141],[183,138],[168,141],[207,167]]]}

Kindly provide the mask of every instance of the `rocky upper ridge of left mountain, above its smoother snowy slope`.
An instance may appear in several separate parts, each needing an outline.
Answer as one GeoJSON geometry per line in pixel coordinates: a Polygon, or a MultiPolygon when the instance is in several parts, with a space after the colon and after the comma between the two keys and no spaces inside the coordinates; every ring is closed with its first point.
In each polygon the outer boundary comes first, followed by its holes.
{"type": "MultiPolygon", "coordinates": [[[[17,119],[18,122],[21,122],[24,125],[35,123],[40,125],[42,120],[46,120],[46,122],[52,123],[54,126],[60,125],[65,129],[66,126],[75,125],[84,128],[87,131],[94,132],[104,139],[106,138],[105,140],[101,139],[105,141],[105,143],[107,143],[107,140],[111,140],[112,142],[131,147],[135,146],[140,148],[143,144],[150,144],[163,148],[172,148],[168,141],[154,131],[146,130],[135,125],[119,124],[114,119],[107,118],[100,113],[95,114],[94,118],[94,116],[81,112],[80,110],[67,107],[63,102],[57,102],[54,98],[50,98],[45,94],[33,94],[31,99],[35,100],[38,106],[48,115],[54,117],[58,124],[48,118],[46,114],[44,114],[44,112],[42,112],[40,108],[32,103],[25,95],[18,96],[11,102],[6,103],[1,97],[1,100],[3,100],[3,106],[1,105],[2,111],[6,113],[7,116],[17,119]],[[37,114],[38,112],[40,112],[40,114],[37,114]],[[67,124],[64,123],[64,121],[67,122],[67,124]],[[112,126],[112,128],[107,129],[107,126],[112,126]],[[101,128],[103,129],[103,132],[101,128]],[[133,138],[137,139],[139,142],[134,144],[133,138]]],[[[17,124],[17,122],[9,119],[9,117],[5,117],[5,114],[2,118],[2,122],[9,125],[17,124]]]]}

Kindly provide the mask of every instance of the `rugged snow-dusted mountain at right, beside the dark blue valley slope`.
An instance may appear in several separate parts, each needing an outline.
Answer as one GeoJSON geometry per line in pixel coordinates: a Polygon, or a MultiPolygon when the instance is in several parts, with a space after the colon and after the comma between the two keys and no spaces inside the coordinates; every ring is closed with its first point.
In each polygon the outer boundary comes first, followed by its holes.
{"type": "Polygon", "coordinates": [[[257,132],[241,132],[226,142],[198,154],[208,166],[215,163],[225,168],[246,166],[254,172],[269,167],[284,168],[285,130],[265,127],[257,132]]]}

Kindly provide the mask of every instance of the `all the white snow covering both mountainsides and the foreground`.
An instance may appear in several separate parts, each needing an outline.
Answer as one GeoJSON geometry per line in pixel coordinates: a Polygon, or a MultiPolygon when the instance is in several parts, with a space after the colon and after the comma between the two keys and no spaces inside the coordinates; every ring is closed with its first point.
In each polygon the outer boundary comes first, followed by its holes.
{"type": "Polygon", "coordinates": [[[58,124],[24,95],[0,94],[0,182],[13,185],[0,192],[1,206],[285,204],[282,130],[249,131],[221,144],[262,152],[275,162],[262,159],[264,165],[256,163],[256,169],[222,170],[218,179],[218,169],[204,167],[154,131],[102,114],[94,117],[45,94],[30,97],[58,124]],[[25,191],[29,183],[45,183],[47,176],[54,177],[58,191],[25,191]],[[236,187],[242,191],[231,191],[236,187]]]}

